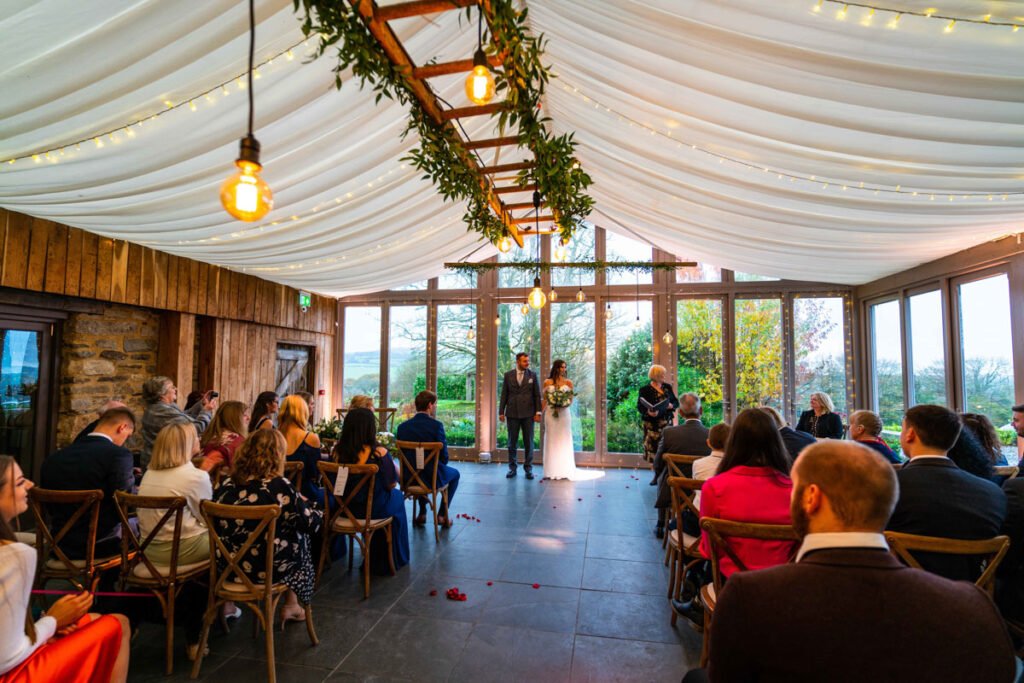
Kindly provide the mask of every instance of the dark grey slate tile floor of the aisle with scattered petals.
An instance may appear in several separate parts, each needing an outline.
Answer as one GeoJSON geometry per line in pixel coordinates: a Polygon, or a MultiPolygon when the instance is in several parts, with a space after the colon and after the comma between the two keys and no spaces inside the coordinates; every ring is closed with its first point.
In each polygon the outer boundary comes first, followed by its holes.
{"type": "MultiPolygon", "coordinates": [[[[457,520],[437,544],[429,527],[411,528],[411,564],[375,577],[369,600],[358,570],[332,568],[313,599],[321,644],[298,624],[274,634],[279,681],[677,682],[696,666],[699,636],[669,624],[649,472],[542,483],[521,471],[507,480],[504,465],[457,466],[454,512],[480,521],[457,520]],[[466,602],[444,598],[453,586],[466,602]]],[[[230,634],[214,629],[202,680],[266,680],[251,622],[246,612],[230,634]]],[[[187,680],[182,639],[166,677],[163,629],[144,626],[129,681],[187,680]]]]}

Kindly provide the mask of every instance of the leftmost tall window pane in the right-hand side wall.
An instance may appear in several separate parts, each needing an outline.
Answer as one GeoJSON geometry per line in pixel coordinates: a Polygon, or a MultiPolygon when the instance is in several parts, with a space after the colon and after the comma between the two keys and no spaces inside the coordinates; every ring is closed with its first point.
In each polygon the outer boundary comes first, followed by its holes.
{"type": "Polygon", "coordinates": [[[903,423],[903,334],[899,302],[886,301],[869,309],[871,327],[871,387],[874,412],[882,417],[887,440],[900,432],[903,423]]]}

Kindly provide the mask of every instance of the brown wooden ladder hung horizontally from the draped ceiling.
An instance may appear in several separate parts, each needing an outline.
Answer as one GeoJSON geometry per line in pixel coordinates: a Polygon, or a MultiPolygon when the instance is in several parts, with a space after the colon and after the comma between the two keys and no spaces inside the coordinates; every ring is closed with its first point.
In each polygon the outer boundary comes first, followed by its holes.
{"type": "MultiPolygon", "coordinates": [[[[412,86],[413,93],[419,100],[420,105],[423,106],[423,111],[427,113],[427,116],[434,120],[434,123],[439,126],[447,127],[454,131],[455,134],[463,140],[466,150],[470,152],[502,147],[506,145],[518,146],[519,140],[515,136],[492,137],[481,140],[466,139],[459,128],[453,123],[457,119],[474,116],[489,116],[495,114],[501,110],[501,102],[445,109],[438,101],[437,96],[427,83],[428,79],[437,76],[469,73],[473,70],[472,59],[458,59],[456,61],[417,67],[413,62],[412,57],[409,56],[409,52],[406,51],[404,46],[398,40],[394,31],[392,31],[391,27],[388,25],[388,22],[393,22],[395,19],[421,16],[424,14],[434,14],[437,12],[470,7],[472,5],[479,5],[480,10],[483,12],[484,20],[486,20],[489,26],[489,0],[414,0],[412,2],[385,5],[383,7],[378,6],[374,0],[350,0],[350,2],[359,14],[362,15],[362,18],[366,19],[367,26],[370,28],[370,33],[373,34],[374,38],[377,39],[377,42],[380,43],[380,46],[384,50],[387,57],[395,66],[407,70],[410,73],[410,85],[412,86]]],[[[489,57],[489,61],[492,66],[501,66],[501,59],[497,56],[489,57]]],[[[480,184],[486,190],[487,197],[489,198],[492,210],[499,218],[501,218],[506,229],[508,230],[509,236],[517,245],[519,245],[519,247],[523,246],[522,240],[524,237],[554,234],[558,231],[557,226],[554,224],[556,218],[554,215],[542,215],[539,218],[535,218],[532,215],[532,202],[505,202],[502,199],[507,196],[515,198],[515,196],[521,193],[532,193],[537,188],[536,184],[527,183],[523,186],[519,186],[517,184],[506,186],[496,185],[494,176],[497,174],[532,168],[534,164],[531,162],[481,166],[477,163],[475,155],[468,155],[466,162],[479,175],[480,184]],[[512,215],[513,211],[522,209],[528,209],[530,213],[521,216],[512,215]],[[539,230],[519,228],[519,225],[535,223],[535,220],[539,220],[539,222],[542,223],[550,223],[551,225],[550,227],[539,230]]],[[[548,213],[553,214],[554,212],[549,211],[548,213]]]]}

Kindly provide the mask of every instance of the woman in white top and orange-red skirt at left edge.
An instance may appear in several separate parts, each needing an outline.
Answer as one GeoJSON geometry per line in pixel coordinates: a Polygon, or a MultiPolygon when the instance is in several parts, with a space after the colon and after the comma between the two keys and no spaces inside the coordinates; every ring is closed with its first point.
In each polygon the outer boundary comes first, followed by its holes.
{"type": "Polygon", "coordinates": [[[0,681],[122,683],[128,679],[127,618],[88,613],[89,593],[62,596],[32,618],[36,549],[17,543],[11,529],[29,509],[30,488],[14,459],[0,456],[0,681]]]}

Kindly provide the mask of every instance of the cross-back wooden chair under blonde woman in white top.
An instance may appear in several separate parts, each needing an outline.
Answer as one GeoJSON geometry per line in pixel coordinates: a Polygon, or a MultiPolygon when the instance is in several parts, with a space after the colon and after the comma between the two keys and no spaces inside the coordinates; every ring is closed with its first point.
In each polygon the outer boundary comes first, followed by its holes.
{"type": "Polygon", "coordinates": [[[181,520],[184,516],[186,501],[180,496],[133,496],[119,490],[114,494],[118,515],[121,517],[121,583],[125,586],[137,586],[153,593],[160,601],[164,612],[167,674],[174,671],[174,602],[181,588],[189,581],[204,579],[210,570],[210,561],[178,564],[178,547],[181,543],[181,520]],[[136,535],[128,522],[132,513],[139,510],[152,510],[160,519],[144,538],[136,535]],[[169,564],[158,564],[145,555],[146,548],[164,529],[170,525],[171,561],[169,564]]]}

